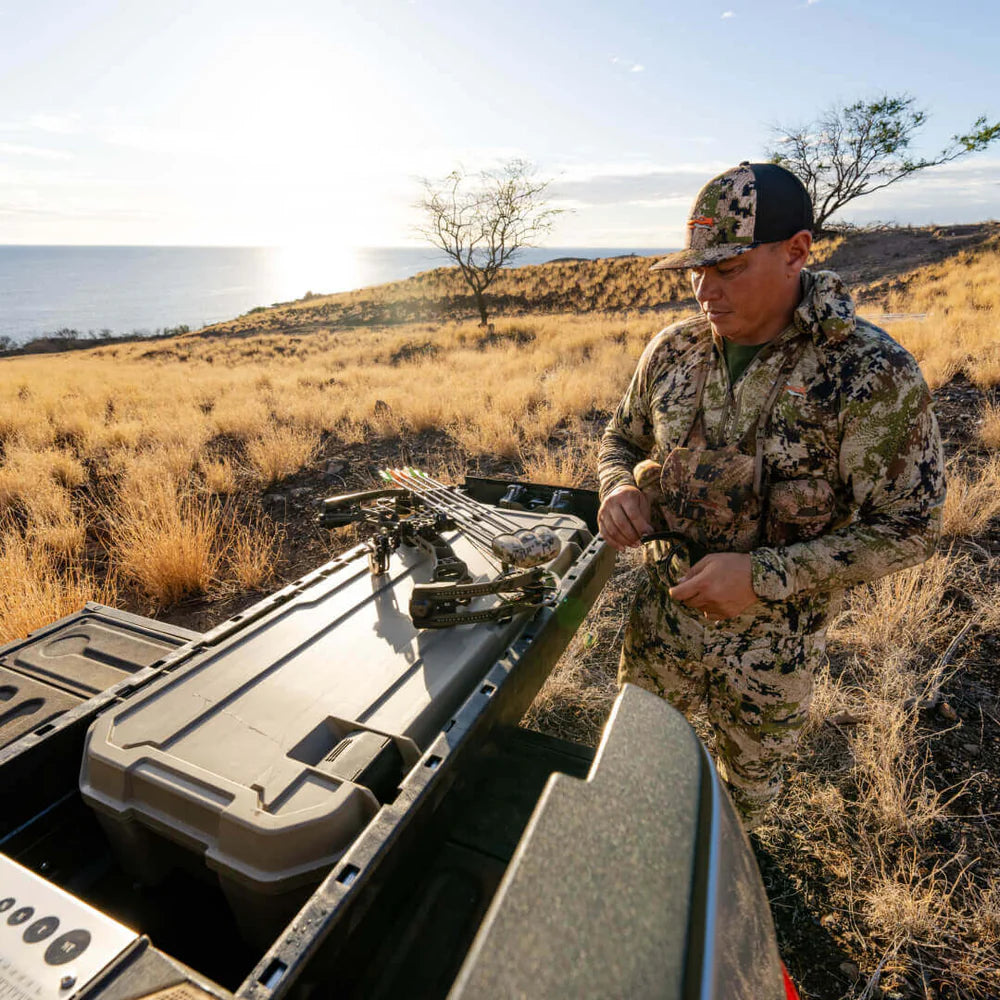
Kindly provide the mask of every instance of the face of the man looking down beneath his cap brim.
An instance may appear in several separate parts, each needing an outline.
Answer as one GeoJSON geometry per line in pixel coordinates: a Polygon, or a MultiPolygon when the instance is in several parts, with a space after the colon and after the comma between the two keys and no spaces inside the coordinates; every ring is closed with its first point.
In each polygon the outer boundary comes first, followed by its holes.
{"type": "Polygon", "coordinates": [[[767,243],[710,267],[691,269],[691,288],[712,329],[737,344],[764,344],[790,320],[798,273],[786,243],[767,243]],[[794,288],[793,288],[794,285],[794,288]]]}

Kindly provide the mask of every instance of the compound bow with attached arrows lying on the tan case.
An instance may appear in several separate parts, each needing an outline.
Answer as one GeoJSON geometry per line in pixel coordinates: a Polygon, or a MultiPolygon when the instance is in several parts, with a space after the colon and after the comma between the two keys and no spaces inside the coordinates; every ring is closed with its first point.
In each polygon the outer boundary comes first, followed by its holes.
{"type": "Polygon", "coordinates": [[[320,523],[327,528],[348,524],[366,528],[373,575],[388,571],[389,557],[401,545],[430,555],[431,582],[416,584],[410,598],[410,617],[418,628],[508,621],[550,598],[554,585],[543,565],[555,559],[562,547],[551,528],[525,528],[418,469],[383,469],[379,475],[386,483],[380,489],[324,500],[320,523]],[[497,575],[475,581],[444,537],[448,531],[461,532],[497,567],[497,575]],[[500,603],[460,610],[473,598],[489,595],[500,596],[500,603]]]}

